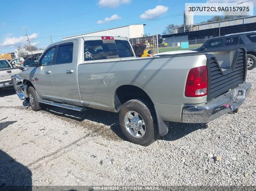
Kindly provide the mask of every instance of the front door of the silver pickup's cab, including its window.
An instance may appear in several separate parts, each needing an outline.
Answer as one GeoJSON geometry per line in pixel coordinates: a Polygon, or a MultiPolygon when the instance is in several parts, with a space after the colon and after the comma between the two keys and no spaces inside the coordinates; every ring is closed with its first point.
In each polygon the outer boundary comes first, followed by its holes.
{"type": "Polygon", "coordinates": [[[49,47],[40,58],[33,81],[41,97],[57,98],[52,83],[52,67],[56,62],[56,45],[49,47]]]}

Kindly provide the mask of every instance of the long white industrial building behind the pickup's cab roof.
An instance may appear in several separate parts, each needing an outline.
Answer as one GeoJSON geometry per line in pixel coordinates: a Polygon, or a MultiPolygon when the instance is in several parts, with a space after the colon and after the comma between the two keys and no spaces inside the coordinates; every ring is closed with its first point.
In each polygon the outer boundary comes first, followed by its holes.
{"type": "Polygon", "coordinates": [[[67,40],[74,37],[88,37],[88,36],[120,36],[120,37],[127,37],[127,38],[137,38],[137,37],[143,36],[145,25],[146,24],[133,24],[133,25],[128,25],[124,27],[100,30],[100,31],[80,34],[72,37],[66,37],[66,38],[63,38],[63,40],[67,40]]]}

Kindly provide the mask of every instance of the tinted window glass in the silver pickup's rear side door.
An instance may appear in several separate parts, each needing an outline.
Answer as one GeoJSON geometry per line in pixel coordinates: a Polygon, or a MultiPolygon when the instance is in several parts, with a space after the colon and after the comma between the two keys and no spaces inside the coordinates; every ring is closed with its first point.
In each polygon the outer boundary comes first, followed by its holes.
{"type": "Polygon", "coordinates": [[[73,43],[68,45],[59,45],[56,64],[72,63],[73,61],[73,43]]]}

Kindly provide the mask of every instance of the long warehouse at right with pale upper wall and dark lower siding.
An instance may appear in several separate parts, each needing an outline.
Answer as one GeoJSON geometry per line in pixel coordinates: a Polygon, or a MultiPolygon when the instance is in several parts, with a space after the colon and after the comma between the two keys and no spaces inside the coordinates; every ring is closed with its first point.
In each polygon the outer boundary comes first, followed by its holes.
{"type": "Polygon", "coordinates": [[[166,43],[188,40],[208,39],[231,33],[256,30],[256,16],[196,24],[191,31],[184,32],[184,27],[175,28],[174,34],[162,35],[166,43]]]}

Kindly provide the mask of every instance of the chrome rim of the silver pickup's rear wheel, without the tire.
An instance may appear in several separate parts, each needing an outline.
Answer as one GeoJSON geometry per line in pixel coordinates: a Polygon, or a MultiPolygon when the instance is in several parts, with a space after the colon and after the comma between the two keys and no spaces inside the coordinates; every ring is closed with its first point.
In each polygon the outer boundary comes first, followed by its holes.
{"type": "Polygon", "coordinates": [[[146,132],[144,119],[136,111],[128,111],[125,114],[125,127],[136,138],[143,137],[146,132]]]}

